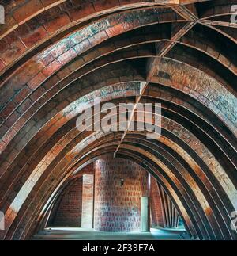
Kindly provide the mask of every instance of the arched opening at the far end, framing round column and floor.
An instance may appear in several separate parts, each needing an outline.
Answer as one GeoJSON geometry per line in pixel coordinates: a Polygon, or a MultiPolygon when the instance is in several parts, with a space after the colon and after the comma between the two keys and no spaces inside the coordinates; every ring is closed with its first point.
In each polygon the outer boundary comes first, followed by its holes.
{"type": "Polygon", "coordinates": [[[74,174],[42,221],[33,239],[190,239],[156,178],[113,155],[74,174]]]}

